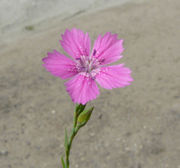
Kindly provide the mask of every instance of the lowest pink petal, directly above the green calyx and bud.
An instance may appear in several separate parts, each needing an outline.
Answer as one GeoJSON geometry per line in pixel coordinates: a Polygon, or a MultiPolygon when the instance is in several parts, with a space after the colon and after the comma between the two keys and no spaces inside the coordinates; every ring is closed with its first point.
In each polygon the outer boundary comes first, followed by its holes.
{"type": "Polygon", "coordinates": [[[99,95],[99,88],[96,82],[87,76],[78,74],[65,83],[66,90],[74,103],[86,104],[96,99],[99,95]]]}

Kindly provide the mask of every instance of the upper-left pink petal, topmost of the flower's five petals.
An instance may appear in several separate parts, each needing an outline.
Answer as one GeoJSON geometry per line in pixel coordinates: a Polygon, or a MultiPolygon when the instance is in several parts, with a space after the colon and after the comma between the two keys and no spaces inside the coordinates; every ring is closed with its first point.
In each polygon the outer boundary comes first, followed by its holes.
{"type": "Polygon", "coordinates": [[[89,55],[90,37],[88,33],[85,34],[81,30],[76,28],[72,30],[67,29],[62,35],[60,43],[64,50],[75,59],[82,55],[89,55]]]}

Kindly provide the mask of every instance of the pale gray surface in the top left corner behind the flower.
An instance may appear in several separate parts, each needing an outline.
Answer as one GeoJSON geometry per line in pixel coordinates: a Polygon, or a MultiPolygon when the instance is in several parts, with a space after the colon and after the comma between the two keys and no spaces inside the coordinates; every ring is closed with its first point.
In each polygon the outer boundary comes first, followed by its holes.
{"type": "MultiPolygon", "coordinates": [[[[129,0],[1,0],[0,1],[0,37],[3,41],[12,41],[26,30],[38,27],[39,23],[57,17],[59,20],[75,15],[93,12],[129,0]]],[[[134,0],[139,1],[139,0],[134,0]]],[[[43,24],[44,28],[50,25],[43,24]]]]}

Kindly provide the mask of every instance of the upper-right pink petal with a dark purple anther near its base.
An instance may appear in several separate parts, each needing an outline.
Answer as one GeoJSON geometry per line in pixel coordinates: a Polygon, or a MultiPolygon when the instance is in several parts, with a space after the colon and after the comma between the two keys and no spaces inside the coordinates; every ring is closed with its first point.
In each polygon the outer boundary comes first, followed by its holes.
{"type": "Polygon", "coordinates": [[[123,40],[117,39],[117,34],[106,33],[103,37],[98,36],[94,43],[92,56],[97,58],[101,65],[115,62],[122,58],[123,40]]]}

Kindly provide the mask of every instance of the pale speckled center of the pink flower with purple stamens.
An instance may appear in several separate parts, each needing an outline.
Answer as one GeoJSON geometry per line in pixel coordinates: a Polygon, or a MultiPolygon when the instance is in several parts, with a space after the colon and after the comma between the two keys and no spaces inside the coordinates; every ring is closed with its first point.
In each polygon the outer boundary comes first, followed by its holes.
{"type": "Polygon", "coordinates": [[[76,67],[79,73],[85,76],[94,77],[99,72],[99,62],[94,57],[81,56],[76,59],[76,67]]]}

